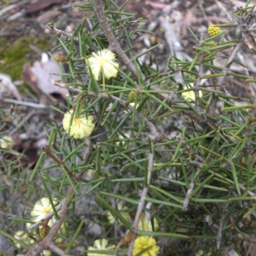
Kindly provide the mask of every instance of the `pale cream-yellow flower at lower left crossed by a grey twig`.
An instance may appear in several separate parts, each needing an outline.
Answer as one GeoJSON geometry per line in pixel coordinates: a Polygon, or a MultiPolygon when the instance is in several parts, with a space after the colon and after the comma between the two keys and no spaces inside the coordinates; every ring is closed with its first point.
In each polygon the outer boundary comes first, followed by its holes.
{"type": "MultiPolygon", "coordinates": [[[[40,201],[36,202],[33,211],[31,211],[32,220],[38,222],[42,220],[49,212],[52,211],[52,206],[48,198],[42,198],[40,201]]],[[[54,224],[54,218],[51,218],[48,225],[52,227],[54,224]]]]}

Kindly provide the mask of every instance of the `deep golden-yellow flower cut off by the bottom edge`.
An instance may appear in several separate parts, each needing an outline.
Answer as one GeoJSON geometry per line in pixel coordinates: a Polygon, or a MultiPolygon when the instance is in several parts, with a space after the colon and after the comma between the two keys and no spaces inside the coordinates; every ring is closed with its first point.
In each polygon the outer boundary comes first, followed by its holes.
{"type": "Polygon", "coordinates": [[[132,256],[140,253],[140,256],[156,256],[159,252],[159,246],[156,240],[151,236],[139,236],[134,241],[132,256]],[[143,253],[141,253],[143,251],[143,253]]]}

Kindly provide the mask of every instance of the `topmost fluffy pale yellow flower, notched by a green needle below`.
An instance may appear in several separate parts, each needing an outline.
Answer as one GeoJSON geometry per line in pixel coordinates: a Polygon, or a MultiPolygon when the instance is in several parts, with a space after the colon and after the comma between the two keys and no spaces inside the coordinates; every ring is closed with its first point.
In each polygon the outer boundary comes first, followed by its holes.
{"type": "Polygon", "coordinates": [[[97,53],[93,52],[92,56],[86,60],[86,64],[90,67],[95,80],[100,77],[116,77],[118,63],[116,62],[115,54],[108,49],[103,49],[97,53]]]}

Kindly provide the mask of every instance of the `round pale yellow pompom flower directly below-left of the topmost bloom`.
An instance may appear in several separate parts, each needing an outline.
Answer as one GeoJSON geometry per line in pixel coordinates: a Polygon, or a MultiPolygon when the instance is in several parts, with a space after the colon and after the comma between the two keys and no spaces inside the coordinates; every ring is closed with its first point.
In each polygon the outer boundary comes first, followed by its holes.
{"type": "Polygon", "coordinates": [[[94,129],[93,117],[88,115],[79,115],[77,117],[73,116],[74,110],[71,109],[67,113],[65,113],[63,118],[63,127],[66,132],[69,132],[71,136],[75,139],[82,139],[84,136],[89,136],[92,134],[94,129]],[[72,119],[72,122],[70,120],[72,119]]]}

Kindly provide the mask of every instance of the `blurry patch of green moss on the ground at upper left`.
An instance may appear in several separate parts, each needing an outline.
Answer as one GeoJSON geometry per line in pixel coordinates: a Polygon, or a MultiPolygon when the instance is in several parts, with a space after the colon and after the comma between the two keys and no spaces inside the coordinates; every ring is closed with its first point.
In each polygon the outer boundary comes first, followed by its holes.
{"type": "Polygon", "coordinates": [[[9,74],[13,80],[20,79],[23,65],[26,62],[38,60],[38,56],[29,48],[35,45],[42,51],[47,51],[51,43],[45,38],[22,37],[10,44],[5,38],[0,38],[0,70],[9,74]]]}

